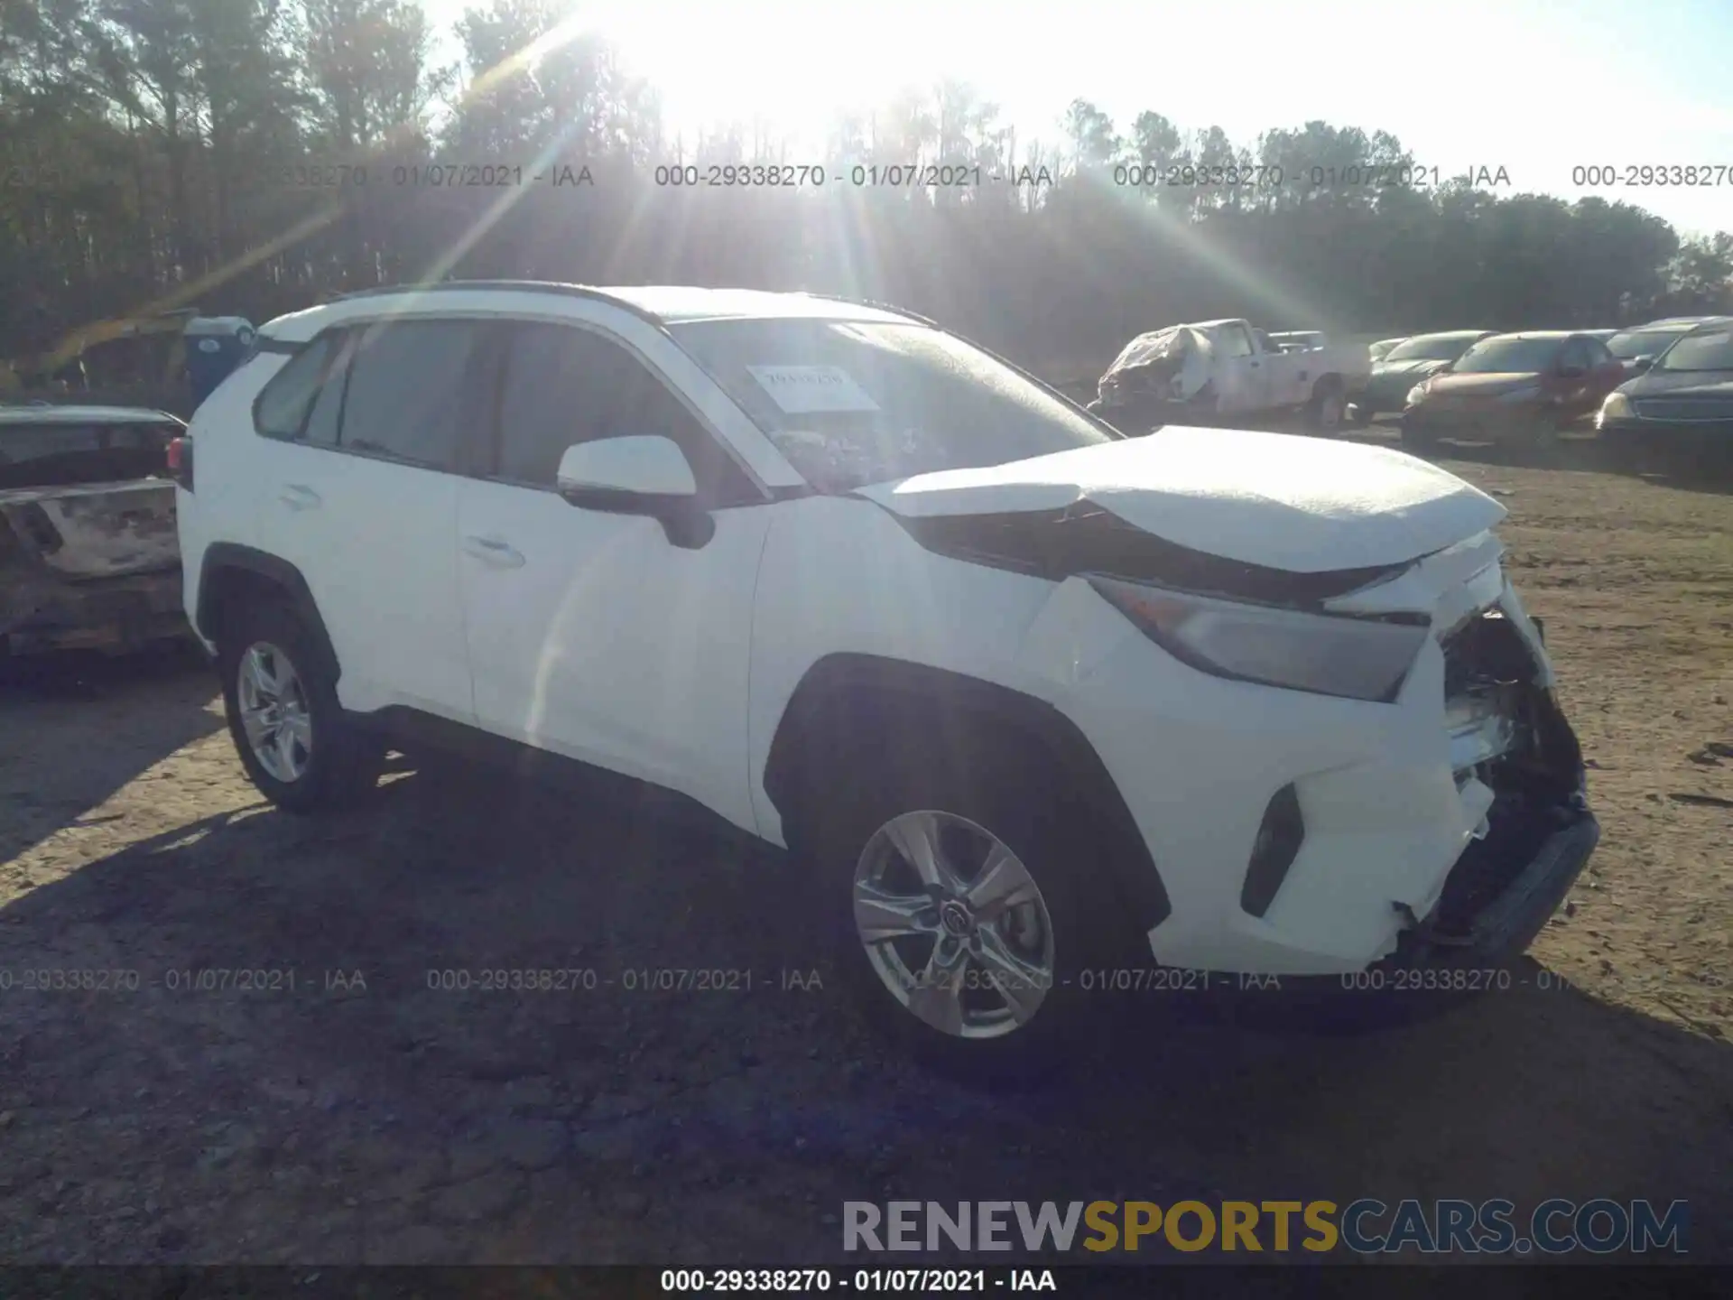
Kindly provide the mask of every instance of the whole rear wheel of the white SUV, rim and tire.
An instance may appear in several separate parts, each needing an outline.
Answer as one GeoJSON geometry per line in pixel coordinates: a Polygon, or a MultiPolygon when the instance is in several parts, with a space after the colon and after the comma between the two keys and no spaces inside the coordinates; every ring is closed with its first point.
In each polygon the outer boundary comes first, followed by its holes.
{"type": "Polygon", "coordinates": [[[281,605],[244,605],[225,624],[224,712],[258,792],[286,813],[362,801],[380,783],[385,744],[343,712],[322,643],[281,605]]]}

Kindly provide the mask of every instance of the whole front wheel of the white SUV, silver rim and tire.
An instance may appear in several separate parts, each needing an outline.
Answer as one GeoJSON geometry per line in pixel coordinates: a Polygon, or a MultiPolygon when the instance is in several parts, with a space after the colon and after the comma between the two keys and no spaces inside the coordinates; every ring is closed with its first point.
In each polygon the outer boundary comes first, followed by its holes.
{"type": "MultiPolygon", "coordinates": [[[[1097,855],[1071,811],[1078,801],[1012,752],[896,752],[834,785],[799,837],[863,1017],[924,1064],[974,1083],[1028,1085],[1066,1069],[1099,1023],[1083,972],[1126,953],[1130,939],[1114,934],[1121,910],[1092,884],[1097,855]],[[936,870],[917,861],[924,842],[939,846],[936,870]],[[1022,900],[996,915],[991,891],[979,889],[995,865],[1022,900]],[[868,941],[865,927],[889,915],[908,927],[868,941]]],[[[1151,964],[1147,952],[1140,964],[1151,964]]]]}

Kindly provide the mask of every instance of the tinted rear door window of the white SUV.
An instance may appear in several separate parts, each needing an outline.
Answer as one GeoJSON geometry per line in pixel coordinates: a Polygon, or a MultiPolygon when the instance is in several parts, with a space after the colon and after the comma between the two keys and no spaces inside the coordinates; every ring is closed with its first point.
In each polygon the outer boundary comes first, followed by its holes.
{"type": "Polygon", "coordinates": [[[489,328],[404,321],[354,331],[341,445],[451,470],[492,400],[484,371],[489,328]]]}

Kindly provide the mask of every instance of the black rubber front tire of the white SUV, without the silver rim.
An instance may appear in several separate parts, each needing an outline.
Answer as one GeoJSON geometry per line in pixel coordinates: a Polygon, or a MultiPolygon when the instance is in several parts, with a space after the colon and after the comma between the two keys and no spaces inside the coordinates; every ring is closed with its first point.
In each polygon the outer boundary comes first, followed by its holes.
{"type": "MultiPolygon", "coordinates": [[[[823,919],[839,972],[861,1016],[899,1050],[938,1073],[972,1083],[1029,1085],[1076,1061],[1100,1026],[1102,991],[1083,988],[1083,971],[1100,964],[1151,965],[1130,960],[1137,939],[1123,908],[1094,863],[1090,822],[1081,801],[1064,796],[1064,783],[1045,764],[1016,756],[1021,747],[970,744],[951,749],[950,761],[934,754],[898,752],[837,782],[828,804],[813,808],[806,832],[797,835],[801,870],[811,872],[804,893],[823,919]],[[854,920],[854,879],[873,835],[892,818],[915,811],[941,811],[986,829],[1022,861],[1040,889],[1050,917],[1054,964],[1035,1014],[993,1038],[964,1038],[931,1026],[892,993],[868,959],[854,920]]],[[[951,832],[946,832],[951,834],[951,832]]],[[[958,832],[967,839],[967,832],[958,832]]],[[[948,856],[965,860],[953,849],[948,856]]],[[[906,858],[905,858],[906,860],[906,858]]],[[[913,969],[934,939],[912,938],[913,969]]],[[[965,997],[993,1002],[998,993],[981,986],[979,964],[970,964],[974,991],[965,997]]]]}

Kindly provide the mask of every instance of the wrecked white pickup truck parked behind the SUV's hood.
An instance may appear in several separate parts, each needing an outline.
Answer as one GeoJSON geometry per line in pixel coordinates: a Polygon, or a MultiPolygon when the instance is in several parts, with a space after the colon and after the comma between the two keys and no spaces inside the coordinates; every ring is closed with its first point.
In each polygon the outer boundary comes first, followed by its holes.
{"type": "Polygon", "coordinates": [[[1133,433],[1293,411],[1321,433],[1341,428],[1348,402],[1371,374],[1366,348],[1331,345],[1314,331],[1277,338],[1286,345],[1248,321],[1139,335],[1100,376],[1088,409],[1133,433]]]}

